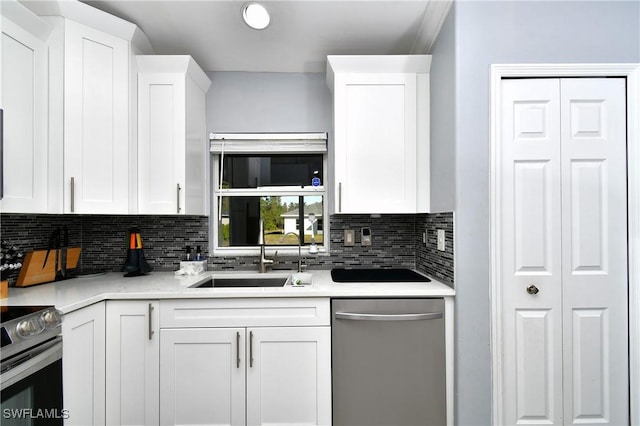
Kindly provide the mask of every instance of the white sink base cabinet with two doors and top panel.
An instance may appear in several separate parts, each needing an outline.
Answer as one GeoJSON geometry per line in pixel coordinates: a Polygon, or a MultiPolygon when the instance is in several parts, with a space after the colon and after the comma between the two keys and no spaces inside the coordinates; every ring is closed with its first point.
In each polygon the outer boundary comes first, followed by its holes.
{"type": "Polygon", "coordinates": [[[330,425],[328,304],[161,303],[160,424],[330,425]]]}

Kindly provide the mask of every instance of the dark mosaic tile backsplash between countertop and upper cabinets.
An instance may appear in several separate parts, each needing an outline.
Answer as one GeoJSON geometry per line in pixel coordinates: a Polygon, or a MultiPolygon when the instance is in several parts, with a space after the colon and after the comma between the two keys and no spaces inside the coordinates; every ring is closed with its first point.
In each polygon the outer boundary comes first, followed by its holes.
{"type": "MultiPolygon", "coordinates": [[[[147,215],[0,215],[0,238],[23,251],[46,249],[49,234],[69,229],[70,245],[82,247],[80,267],[87,271],[119,271],[127,253],[130,227],[140,228],[147,262],[156,271],[179,268],[187,245],[209,246],[209,219],[205,216],[147,215]]],[[[310,269],[334,266],[416,268],[453,285],[453,213],[421,215],[331,216],[331,254],[307,256],[310,269]],[[360,229],[371,228],[372,244],[360,246],[360,229]],[[356,235],[353,247],[344,247],[345,229],[356,235]],[[446,251],[436,250],[436,229],[445,229],[446,251]],[[422,243],[426,230],[428,247],[422,243]]],[[[209,258],[210,270],[256,270],[257,258],[209,258]]],[[[297,256],[280,257],[276,268],[294,269],[297,256]]]]}

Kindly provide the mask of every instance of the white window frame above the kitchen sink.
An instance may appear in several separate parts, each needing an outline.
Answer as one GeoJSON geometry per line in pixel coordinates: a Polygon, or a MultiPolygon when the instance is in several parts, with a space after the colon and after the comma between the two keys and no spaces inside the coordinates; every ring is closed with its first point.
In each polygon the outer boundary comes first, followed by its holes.
{"type": "MultiPolygon", "coordinates": [[[[225,134],[225,138],[229,138],[231,134],[225,134]]],[[[318,135],[318,134],[313,134],[318,135]]],[[[325,146],[326,146],[326,133],[325,135],[325,146]]],[[[322,244],[316,243],[316,247],[318,248],[317,254],[309,254],[309,246],[302,246],[302,254],[305,256],[322,256],[328,255],[330,251],[330,221],[329,221],[329,194],[328,188],[330,187],[329,182],[329,173],[328,171],[328,153],[326,149],[323,152],[318,152],[317,150],[307,150],[305,144],[300,143],[291,143],[288,148],[282,148],[282,134],[275,135],[277,140],[272,140],[271,137],[274,135],[251,135],[251,140],[246,140],[246,134],[240,135],[243,142],[246,142],[247,148],[241,148],[242,151],[231,151],[227,152],[222,148],[222,153],[219,152],[220,148],[214,148],[214,139],[220,139],[220,135],[210,134],[209,139],[211,141],[211,215],[209,217],[209,253],[213,255],[213,257],[225,257],[225,256],[259,256],[260,255],[260,246],[234,246],[234,247],[224,247],[218,245],[218,233],[220,222],[218,218],[220,217],[220,213],[218,211],[219,203],[222,197],[270,197],[270,196],[279,196],[279,197],[287,197],[287,196],[322,196],[322,214],[323,214],[323,238],[322,244]],[[215,138],[218,136],[218,138],[215,138]],[[244,137],[244,138],[243,138],[244,137]],[[252,144],[253,142],[253,144],[252,144]],[[294,145],[295,144],[295,145],[294,145]],[[261,187],[261,188],[235,188],[235,189],[221,189],[220,188],[220,167],[222,164],[222,156],[223,155],[233,155],[233,154],[256,154],[256,155],[270,155],[276,156],[278,154],[281,155],[291,155],[291,154],[316,154],[322,155],[322,167],[323,167],[323,177],[322,177],[322,185],[313,187],[313,186],[305,186],[303,188],[298,187],[277,187],[277,186],[269,186],[269,187],[261,187]]],[[[265,252],[269,256],[273,256],[275,252],[278,252],[279,256],[298,256],[298,245],[265,245],[265,252]]]]}

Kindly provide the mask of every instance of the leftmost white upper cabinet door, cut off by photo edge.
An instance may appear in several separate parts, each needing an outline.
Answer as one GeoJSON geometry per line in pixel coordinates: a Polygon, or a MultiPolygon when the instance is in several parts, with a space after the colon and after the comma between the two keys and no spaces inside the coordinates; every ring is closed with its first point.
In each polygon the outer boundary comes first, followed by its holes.
{"type": "Polygon", "coordinates": [[[47,48],[2,17],[3,212],[47,211],[47,48]]]}

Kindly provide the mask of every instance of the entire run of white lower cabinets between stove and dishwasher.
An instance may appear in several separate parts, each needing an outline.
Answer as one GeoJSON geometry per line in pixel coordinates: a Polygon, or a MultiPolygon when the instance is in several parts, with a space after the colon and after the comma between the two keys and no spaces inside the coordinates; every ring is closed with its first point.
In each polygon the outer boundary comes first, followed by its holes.
{"type": "Polygon", "coordinates": [[[330,425],[329,300],[114,300],[66,314],[69,425],[330,425]]]}

